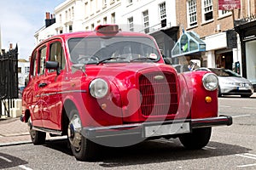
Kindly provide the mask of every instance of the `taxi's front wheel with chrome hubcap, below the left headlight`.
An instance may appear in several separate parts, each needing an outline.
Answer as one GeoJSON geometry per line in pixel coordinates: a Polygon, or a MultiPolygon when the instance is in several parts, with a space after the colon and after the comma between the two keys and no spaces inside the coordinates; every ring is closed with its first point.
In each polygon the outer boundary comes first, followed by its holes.
{"type": "Polygon", "coordinates": [[[78,161],[96,161],[98,144],[86,139],[81,133],[79,133],[79,131],[73,130],[82,128],[79,112],[73,109],[70,111],[69,117],[67,137],[70,143],[70,148],[73,152],[73,156],[75,156],[78,161]],[[80,123],[80,127],[78,127],[76,122],[80,123]],[[75,136],[78,138],[75,138],[75,136]]]}

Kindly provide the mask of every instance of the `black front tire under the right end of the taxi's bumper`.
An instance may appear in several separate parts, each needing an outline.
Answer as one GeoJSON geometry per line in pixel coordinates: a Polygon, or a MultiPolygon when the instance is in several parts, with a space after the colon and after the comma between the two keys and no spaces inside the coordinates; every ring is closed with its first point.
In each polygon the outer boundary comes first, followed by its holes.
{"type": "Polygon", "coordinates": [[[189,150],[200,150],[206,146],[211,138],[212,127],[195,128],[192,133],[179,137],[183,146],[189,150]]]}

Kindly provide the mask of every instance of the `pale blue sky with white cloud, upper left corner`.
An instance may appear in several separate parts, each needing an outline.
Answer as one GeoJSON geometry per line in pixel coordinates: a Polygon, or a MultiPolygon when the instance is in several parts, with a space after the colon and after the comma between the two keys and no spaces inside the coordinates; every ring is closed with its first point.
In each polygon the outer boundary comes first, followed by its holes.
{"type": "Polygon", "coordinates": [[[0,1],[0,31],[2,48],[9,50],[9,43],[18,45],[18,59],[28,59],[36,45],[34,34],[45,23],[45,13],[65,0],[8,0],[0,1]]]}

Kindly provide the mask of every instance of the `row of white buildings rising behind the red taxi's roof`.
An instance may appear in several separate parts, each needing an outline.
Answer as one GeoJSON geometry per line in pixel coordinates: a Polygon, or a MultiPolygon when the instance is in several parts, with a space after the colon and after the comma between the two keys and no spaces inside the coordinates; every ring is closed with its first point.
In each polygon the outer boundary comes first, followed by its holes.
{"type": "Polygon", "coordinates": [[[175,3],[175,0],[67,0],[55,8],[55,14],[46,13],[45,26],[35,34],[36,43],[56,34],[117,24],[122,31],[152,35],[163,54],[171,56],[178,31],[175,3]],[[52,20],[55,22],[49,24],[52,20]]]}

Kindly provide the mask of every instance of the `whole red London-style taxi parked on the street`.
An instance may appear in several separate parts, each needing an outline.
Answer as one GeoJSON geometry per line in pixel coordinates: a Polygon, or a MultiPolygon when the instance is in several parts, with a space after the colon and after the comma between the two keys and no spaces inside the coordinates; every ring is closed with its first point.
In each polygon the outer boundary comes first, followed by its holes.
{"type": "Polygon", "coordinates": [[[20,119],[32,143],[67,135],[80,161],[96,159],[101,145],[162,137],[201,149],[213,126],[232,124],[218,116],[215,74],[178,74],[153,37],[118,26],[50,37],[33,50],[30,68],[20,119]]]}

